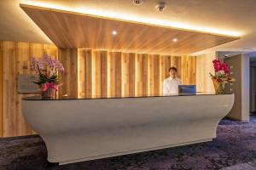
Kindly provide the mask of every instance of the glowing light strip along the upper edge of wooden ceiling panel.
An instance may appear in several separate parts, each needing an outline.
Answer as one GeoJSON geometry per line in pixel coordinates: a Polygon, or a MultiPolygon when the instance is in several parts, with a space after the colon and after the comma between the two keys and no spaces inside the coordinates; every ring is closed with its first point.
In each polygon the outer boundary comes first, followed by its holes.
{"type": "Polygon", "coordinates": [[[211,34],[230,36],[230,37],[240,37],[242,35],[242,33],[238,31],[220,30],[217,28],[210,28],[210,27],[204,27],[204,26],[192,26],[188,24],[172,22],[169,20],[158,20],[154,18],[138,17],[137,15],[131,15],[131,14],[119,14],[119,13],[117,14],[117,13],[114,13],[113,11],[107,11],[107,10],[90,8],[90,7],[69,8],[59,4],[43,3],[43,2],[36,2],[31,0],[24,0],[22,1],[22,3],[25,5],[37,6],[39,8],[40,7],[52,8],[57,10],[64,10],[67,12],[95,15],[98,17],[104,17],[104,18],[113,19],[113,20],[138,22],[138,23],[154,25],[154,26],[166,26],[170,28],[176,28],[176,29],[187,30],[187,31],[200,31],[204,33],[211,33],[211,34]]]}

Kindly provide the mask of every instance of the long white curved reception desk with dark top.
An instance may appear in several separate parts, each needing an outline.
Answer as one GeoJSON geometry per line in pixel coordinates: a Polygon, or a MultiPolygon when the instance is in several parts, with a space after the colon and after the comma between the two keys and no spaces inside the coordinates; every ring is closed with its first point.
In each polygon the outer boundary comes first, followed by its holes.
{"type": "Polygon", "coordinates": [[[234,94],[22,99],[48,161],[66,164],[210,141],[234,94]]]}

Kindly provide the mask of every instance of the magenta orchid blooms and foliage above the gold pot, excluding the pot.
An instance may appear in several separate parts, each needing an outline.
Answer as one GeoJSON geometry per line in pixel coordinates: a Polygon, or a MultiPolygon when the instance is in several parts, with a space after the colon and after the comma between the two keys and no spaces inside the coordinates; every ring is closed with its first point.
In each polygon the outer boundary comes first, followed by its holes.
{"type": "Polygon", "coordinates": [[[217,82],[234,82],[235,81],[233,78],[230,77],[230,66],[224,63],[224,61],[219,59],[214,59],[212,60],[212,64],[215,71],[214,75],[210,73],[212,80],[215,80],[217,82]]]}

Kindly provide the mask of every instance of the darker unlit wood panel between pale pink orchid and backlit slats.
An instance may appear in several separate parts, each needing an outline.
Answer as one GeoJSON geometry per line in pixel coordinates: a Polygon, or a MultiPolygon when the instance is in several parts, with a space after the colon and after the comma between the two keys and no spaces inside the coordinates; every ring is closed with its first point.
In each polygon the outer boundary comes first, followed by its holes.
{"type": "Polygon", "coordinates": [[[65,68],[64,76],[61,76],[63,85],[59,94],[71,98],[78,97],[78,50],[77,49],[58,49],[58,58],[65,68]]]}

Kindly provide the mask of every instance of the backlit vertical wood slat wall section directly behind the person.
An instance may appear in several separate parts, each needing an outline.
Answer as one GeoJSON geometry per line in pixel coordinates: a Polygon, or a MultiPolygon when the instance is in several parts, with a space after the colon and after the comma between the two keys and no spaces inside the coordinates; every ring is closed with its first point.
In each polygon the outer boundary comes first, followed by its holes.
{"type": "Polygon", "coordinates": [[[195,65],[190,56],[79,49],[79,97],[160,95],[171,66],[183,84],[195,84],[195,65]]]}

